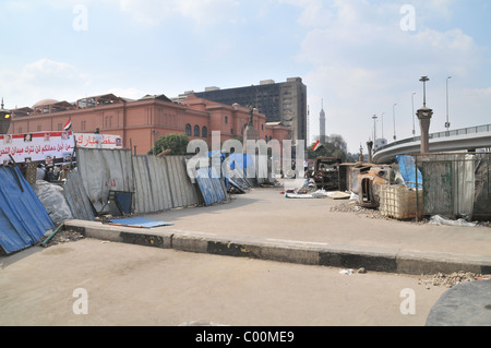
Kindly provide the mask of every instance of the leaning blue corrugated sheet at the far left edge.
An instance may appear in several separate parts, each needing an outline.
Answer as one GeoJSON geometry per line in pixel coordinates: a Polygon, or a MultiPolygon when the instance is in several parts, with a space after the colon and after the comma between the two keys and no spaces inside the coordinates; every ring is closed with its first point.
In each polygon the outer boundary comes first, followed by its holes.
{"type": "Polygon", "coordinates": [[[19,168],[0,167],[0,244],[10,254],[56,228],[19,168]]]}

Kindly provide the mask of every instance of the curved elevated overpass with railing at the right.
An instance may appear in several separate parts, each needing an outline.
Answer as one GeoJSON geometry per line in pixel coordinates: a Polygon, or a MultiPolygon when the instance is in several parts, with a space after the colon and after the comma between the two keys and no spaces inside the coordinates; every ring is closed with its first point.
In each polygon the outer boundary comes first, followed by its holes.
{"type": "MultiPolygon", "coordinates": [[[[491,148],[491,124],[430,134],[430,153],[491,148]]],[[[391,163],[397,155],[420,153],[421,136],[405,139],[374,149],[373,163],[391,163]]]]}

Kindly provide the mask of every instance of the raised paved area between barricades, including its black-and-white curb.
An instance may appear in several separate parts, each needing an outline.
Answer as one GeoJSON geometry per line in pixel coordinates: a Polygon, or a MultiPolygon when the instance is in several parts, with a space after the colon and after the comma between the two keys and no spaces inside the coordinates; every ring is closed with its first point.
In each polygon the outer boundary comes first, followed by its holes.
{"type": "Polygon", "coordinates": [[[434,226],[339,213],[346,201],[286,199],[256,188],[228,203],[145,214],[173,226],[134,228],[67,221],[87,237],[188,252],[367,271],[491,274],[491,228],[434,226]]]}

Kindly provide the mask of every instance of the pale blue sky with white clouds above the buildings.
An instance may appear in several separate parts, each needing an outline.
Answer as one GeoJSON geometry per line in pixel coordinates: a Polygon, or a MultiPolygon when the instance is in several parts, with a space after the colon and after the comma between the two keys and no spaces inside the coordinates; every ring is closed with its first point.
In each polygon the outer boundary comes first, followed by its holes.
{"type": "Polygon", "coordinates": [[[491,123],[489,19],[489,0],[0,0],[0,96],[12,109],[299,76],[308,142],[323,105],[326,133],[359,153],[420,134],[421,76],[430,132],[491,123]]]}

